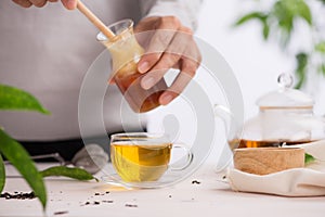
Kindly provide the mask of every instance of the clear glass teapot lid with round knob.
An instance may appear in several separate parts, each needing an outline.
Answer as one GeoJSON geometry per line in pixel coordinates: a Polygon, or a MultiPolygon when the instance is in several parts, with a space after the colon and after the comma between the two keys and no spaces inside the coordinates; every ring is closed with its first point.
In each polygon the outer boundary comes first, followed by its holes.
{"type": "Polygon", "coordinates": [[[281,74],[277,78],[280,88],[258,99],[260,108],[312,108],[314,100],[302,91],[290,88],[291,75],[281,74]]]}

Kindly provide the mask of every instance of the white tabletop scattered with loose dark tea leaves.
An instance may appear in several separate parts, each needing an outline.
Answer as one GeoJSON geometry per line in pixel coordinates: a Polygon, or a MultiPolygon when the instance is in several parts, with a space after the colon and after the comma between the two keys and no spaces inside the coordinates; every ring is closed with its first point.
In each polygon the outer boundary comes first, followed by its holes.
{"type": "MultiPolygon", "coordinates": [[[[14,173],[8,166],[8,174],[14,173]]],[[[126,190],[103,182],[66,178],[46,180],[46,215],[37,199],[0,199],[0,216],[308,216],[325,215],[325,197],[284,197],[233,192],[218,181],[211,164],[205,164],[188,179],[174,187],[126,190]],[[200,183],[194,184],[193,180],[200,183]],[[109,192],[109,193],[106,193],[109,192]],[[95,195],[100,193],[100,195],[95,195]],[[113,202],[108,202],[113,201],[113,202]],[[89,202],[90,204],[86,205],[89,202]],[[100,202],[100,204],[94,204],[100,202]],[[64,214],[55,214],[63,212],[64,214]]],[[[30,192],[22,178],[8,178],[3,192],[30,192]]]]}

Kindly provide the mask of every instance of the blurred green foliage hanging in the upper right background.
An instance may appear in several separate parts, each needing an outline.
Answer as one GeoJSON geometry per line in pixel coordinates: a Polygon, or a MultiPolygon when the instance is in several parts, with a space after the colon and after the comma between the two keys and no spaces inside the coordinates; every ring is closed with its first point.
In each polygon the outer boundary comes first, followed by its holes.
{"type": "MultiPolygon", "coordinates": [[[[322,3],[325,5],[325,0],[274,0],[273,4],[266,10],[256,10],[242,15],[235,26],[242,26],[251,21],[258,21],[261,24],[261,35],[264,40],[269,40],[270,36],[278,41],[282,49],[286,50],[292,36],[297,22],[307,24],[307,29],[314,36],[312,49],[298,49],[292,54],[296,61],[296,88],[300,89],[307,81],[307,74],[310,68],[315,71],[320,76],[325,76],[325,38],[321,35],[317,22],[313,17],[312,4],[322,3]],[[314,56],[318,56],[322,61],[315,63],[312,61],[314,56]]],[[[256,1],[259,3],[259,1],[256,1]]]]}

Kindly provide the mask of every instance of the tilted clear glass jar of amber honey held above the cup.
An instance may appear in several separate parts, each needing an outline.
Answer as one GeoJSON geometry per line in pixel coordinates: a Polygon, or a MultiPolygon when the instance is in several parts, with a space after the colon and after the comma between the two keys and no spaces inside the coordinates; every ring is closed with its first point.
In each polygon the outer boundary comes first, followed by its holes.
{"type": "Polygon", "coordinates": [[[109,51],[113,62],[114,81],[135,113],[144,113],[159,106],[159,97],[167,89],[165,79],[153,88],[145,90],[140,81],[143,74],[138,72],[138,62],[144,53],[133,34],[133,22],[122,20],[112,24],[108,28],[116,35],[108,40],[102,33],[98,35],[109,51]]]}

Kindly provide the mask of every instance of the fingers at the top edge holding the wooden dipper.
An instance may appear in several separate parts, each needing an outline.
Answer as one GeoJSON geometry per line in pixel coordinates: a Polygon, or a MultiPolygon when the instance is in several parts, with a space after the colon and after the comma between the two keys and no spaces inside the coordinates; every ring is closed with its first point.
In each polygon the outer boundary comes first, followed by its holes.
{"type": "MultiPolygon", "coordinates": [[[[31,5],[35,5],[37,8],[42,8],[48,3],[48,1],[57,2],[58,0],[12,0],[12,1],[24,8],[29,8],[31,5]]],[[[74,10],[77,7],[77,0],[61,0],[61,2],[68,10],[74,10]]]]}

